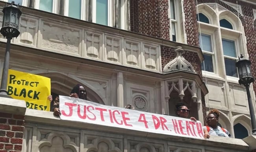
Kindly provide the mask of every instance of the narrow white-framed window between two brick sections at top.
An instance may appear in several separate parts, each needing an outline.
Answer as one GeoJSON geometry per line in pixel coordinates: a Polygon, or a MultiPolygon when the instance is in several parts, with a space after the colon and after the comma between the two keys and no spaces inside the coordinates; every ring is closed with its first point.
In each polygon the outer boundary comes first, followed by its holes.
{"type": "Polygon", "coordinates": [[[170,40],[174,42],[184,42],[183,25],[180,0],[169,0],[169,20],[170,20],[170,40]]]}

